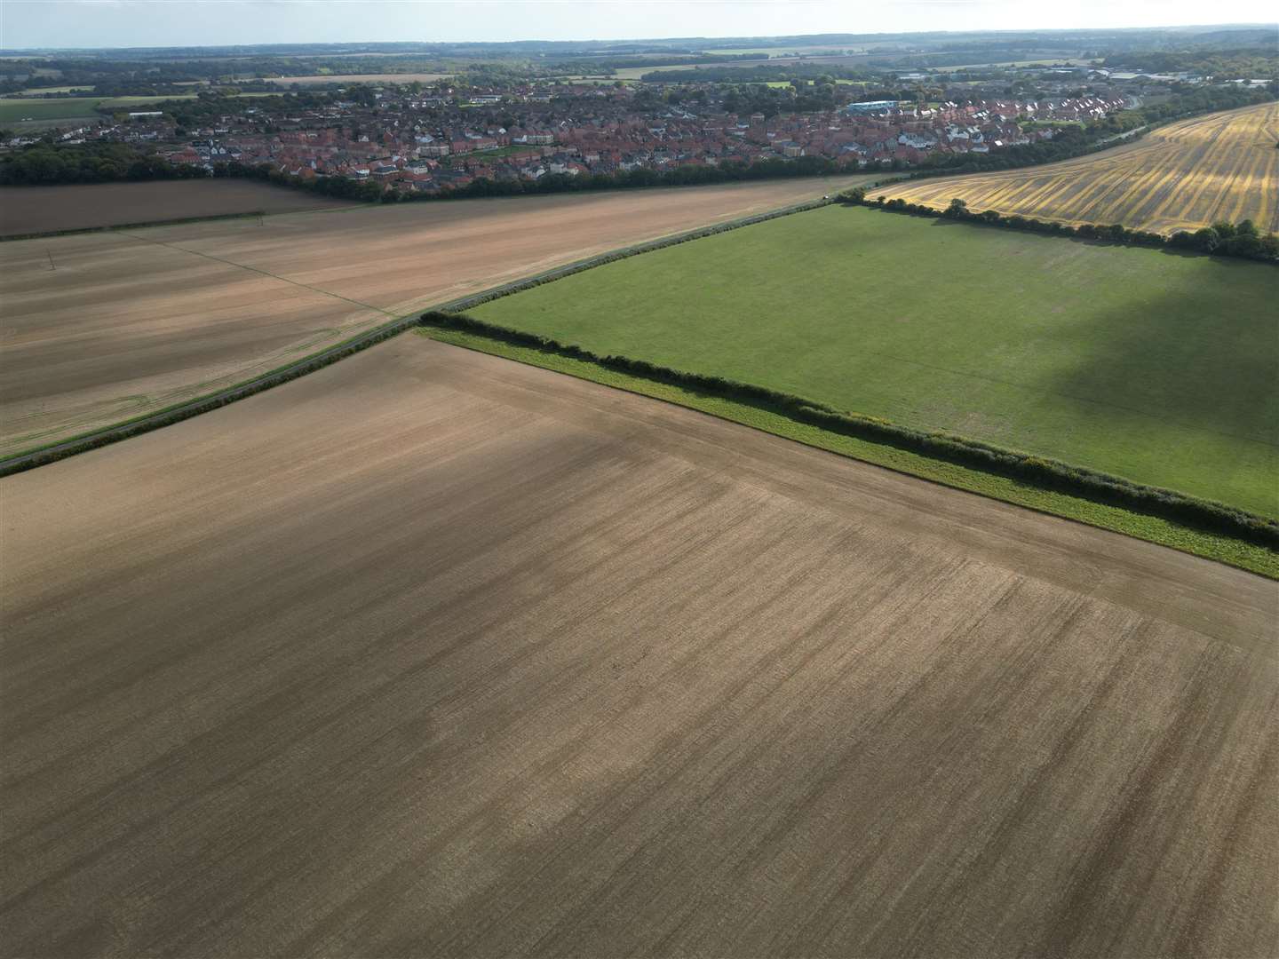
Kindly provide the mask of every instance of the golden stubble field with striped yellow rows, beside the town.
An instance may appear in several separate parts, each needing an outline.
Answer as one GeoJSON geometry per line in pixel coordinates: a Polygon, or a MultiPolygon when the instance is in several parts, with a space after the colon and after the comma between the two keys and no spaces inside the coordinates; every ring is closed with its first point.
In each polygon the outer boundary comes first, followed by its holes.
{"type": "Polygon", "coordinates": [[[1068,224],[1170,234],[1220,220],[1279,230],[1279,104],[1181,120],[1100,153],[1001,173],[902,183],[875,196],[944,207],[959,197],[1068,224]]]}

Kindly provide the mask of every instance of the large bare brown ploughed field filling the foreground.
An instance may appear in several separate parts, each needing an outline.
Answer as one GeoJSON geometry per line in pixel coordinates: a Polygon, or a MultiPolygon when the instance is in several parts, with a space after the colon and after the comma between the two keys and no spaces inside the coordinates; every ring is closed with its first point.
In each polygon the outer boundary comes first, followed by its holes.
{"type": "Polygon", "coordinates": [[[1276,588],[400,336],[0,481],[9,955],[1264,956],[1276,588]]]}

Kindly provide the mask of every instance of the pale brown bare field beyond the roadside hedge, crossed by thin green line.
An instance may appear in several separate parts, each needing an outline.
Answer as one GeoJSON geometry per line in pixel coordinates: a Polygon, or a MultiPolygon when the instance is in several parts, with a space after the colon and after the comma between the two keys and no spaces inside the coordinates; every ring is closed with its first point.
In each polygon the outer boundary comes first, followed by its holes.
{"type": "Polygon", "coordinates": [[[0,243],[0,453],[210,393],[466,293],[863,179],[407,203],[0,243]]]}

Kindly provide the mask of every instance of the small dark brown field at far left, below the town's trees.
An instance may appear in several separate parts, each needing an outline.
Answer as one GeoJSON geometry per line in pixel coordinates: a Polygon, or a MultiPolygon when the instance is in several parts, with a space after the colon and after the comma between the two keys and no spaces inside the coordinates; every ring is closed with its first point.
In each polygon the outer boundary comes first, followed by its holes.
{"type": "Polygon", "coordinates": [[[225,214],[286,214],[356,206],[249,180],[157,180],[74,187],[0,187],[0,237],[83,230],[225,214]]]}

